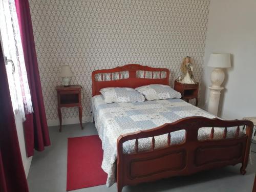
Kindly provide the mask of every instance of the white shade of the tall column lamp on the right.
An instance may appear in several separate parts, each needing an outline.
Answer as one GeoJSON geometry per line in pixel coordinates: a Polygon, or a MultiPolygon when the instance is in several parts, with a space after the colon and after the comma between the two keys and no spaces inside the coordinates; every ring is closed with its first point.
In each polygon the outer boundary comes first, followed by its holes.
{"type": "Polygon", "coordinates": [[[230,68],[230,53],[211,53],[208,66],[214,68],[230,68]]]}

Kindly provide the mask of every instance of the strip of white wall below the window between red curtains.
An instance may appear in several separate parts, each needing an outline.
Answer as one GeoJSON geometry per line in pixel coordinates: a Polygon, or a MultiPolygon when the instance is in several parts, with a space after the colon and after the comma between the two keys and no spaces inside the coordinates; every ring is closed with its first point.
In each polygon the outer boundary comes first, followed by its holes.
{"type": "Polygon", "coordinates": [[[20,116],[19,113],[15,115],[15,123],[16,123],[20,153],[22,154],[22,162],[25,169],[26,177],[28,177],[32,157],[29,157],[29,158],[27,157],[24,130],[23,130],[24,127],[23,127],[22,117],[20,116]]]}

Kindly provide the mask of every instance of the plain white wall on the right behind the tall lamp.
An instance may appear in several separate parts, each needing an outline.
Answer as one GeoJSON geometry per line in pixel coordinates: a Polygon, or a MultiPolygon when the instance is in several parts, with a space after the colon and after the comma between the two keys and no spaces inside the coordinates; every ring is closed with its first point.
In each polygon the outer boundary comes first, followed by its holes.
{"type": "Polygon", "coordinates": [[[256,116],[256,1],[214,0],[210,2],[204,58],[201,105],[208,98],[211,70],[207,67],[211,52],[232,54],[226,70],[219,116],[240,119],[256,116]]]}

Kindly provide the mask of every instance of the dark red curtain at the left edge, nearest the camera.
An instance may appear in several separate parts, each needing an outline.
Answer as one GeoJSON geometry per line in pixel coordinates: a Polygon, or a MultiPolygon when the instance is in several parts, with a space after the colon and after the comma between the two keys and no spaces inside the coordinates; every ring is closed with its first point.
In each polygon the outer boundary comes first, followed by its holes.
{"type": "Polygon", "coordinates": [[[28,184],[18,144],[4,55],[1,46],[0,98],[0,191],[27,192],[28,184]]]}

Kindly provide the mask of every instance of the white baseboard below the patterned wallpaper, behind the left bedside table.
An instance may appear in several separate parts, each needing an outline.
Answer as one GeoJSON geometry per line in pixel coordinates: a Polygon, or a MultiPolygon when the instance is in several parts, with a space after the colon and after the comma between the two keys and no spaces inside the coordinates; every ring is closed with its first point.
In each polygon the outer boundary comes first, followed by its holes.
{"type": "MultiPolygon", "coordinates": [[[[92,122],[92,116],[83,116],[82,117],[82,122],[92,122]]],[[[74,117],[74,118],[63,118],[62,119],[62,125],[66,124],[76,124],[79,123],[79,117],[74,117]]],[[[59,125],[59,119],[50,119],[47,120],[48,126],[58,126],[59,125]]]]}

